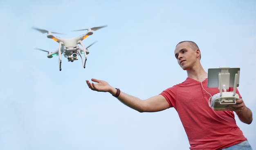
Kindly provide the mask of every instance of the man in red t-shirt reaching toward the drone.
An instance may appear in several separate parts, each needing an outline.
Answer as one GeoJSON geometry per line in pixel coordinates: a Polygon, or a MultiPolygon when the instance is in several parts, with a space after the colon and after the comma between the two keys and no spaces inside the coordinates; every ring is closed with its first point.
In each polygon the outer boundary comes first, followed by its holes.
{"type": "MultiPolygon", "coordinates": [[[[86,81],[95,91],[109,92],[119,101],[139,112],[157,112],[174,107],[180,116],[189,139],[191,150],[252,150],[243,132],[236,125],[234,112],[243,123],[252,123],[252,112],[240,99],[226,107],[226,111],[214,111],[208,105],[210,96],[219,92],[218,88],[207,87],[207,72],[201,63],[201,52],[192,41],[182,41],[176,45],[175,58],[186,70],[184,82],[174,85],[157,96],[141,100],[110,86],[106,81],[92,79],[86,81]]],[[[228,91],[232,91],[229,88],[228,91]]]]}

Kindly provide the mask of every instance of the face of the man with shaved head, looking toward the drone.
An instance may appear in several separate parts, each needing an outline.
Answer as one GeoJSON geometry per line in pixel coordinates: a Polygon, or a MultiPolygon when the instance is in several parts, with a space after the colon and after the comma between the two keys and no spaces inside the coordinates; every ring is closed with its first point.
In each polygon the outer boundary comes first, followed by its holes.
{"type": "Polygon", "coordinates": [[[183,70],[190,69],[195,65],[197,50],[193,50],[189,42],[178,44],[175,48],[174,54],[178,64],[183,70]]]}

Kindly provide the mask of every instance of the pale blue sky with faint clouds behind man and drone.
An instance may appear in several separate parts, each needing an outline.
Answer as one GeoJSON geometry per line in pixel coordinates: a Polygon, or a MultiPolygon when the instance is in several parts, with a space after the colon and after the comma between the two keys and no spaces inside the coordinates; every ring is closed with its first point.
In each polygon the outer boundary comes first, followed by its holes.
{"type": "MultiPolygon", "coordinates": [[[[85,82],[155,96],[186,79],[174,56],[183,40],[198,44],[206,71],[240,67],[238,90],[255,116],[255,0],[0,0],[0,22],[0,150],[188,150],[174,108],[139,113],[85,82]],[[60,72],[58,57],[34,49],[58,43],[31,27],[72,38],[102,25],[83,40],[98,41],[85,69],[63,57],[60,72]]],[[[236,121],[256,149],[255,120],[236,121]]]]}

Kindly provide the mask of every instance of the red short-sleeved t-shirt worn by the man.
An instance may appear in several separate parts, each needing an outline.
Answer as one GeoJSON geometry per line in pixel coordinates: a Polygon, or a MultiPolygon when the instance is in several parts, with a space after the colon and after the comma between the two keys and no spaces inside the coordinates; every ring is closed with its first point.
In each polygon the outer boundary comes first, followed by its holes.
{"type": "MultiPolygon", "coordinates": [[[[174,107],[189,139],[191,150],[219,150],[247,140],[236,125],[234,112],[214,111],[208,100],[220,92],[202,82],[186,78],[183,83],[164,90],[161,95],[174,107]],[[202,85],[204,89],[202,88],[202,85]],[[207,92],[206,92],[206,91],[207,92]]],[[[233,87],[227,92],[233,91],[233,87]]],[[[236,90],[236,93],[242,98],[236,90]]]]}

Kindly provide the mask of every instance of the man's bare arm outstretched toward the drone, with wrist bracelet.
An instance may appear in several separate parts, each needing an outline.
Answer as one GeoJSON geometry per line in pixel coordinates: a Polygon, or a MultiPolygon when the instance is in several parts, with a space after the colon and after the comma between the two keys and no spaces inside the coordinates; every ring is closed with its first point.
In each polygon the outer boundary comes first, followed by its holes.
{"type": "MultiPolygon", "coordinates": [[[[109,92],[112,95],[115,95],[117,93],[117,89],[110,86],[106,81],[97,80],[94,78],[92,78],[92,81],[96,82],[96,84],[93,82],[90,83],[90,81],[86,80],[86,83],[91,90],[99,92],[109,92]]],[[[139,112],[158,112],[169,108],[169,103],[162,95],[157,95],[150,97],[146,100],[141,100],[135,96],[120,92],[117,99],[119,99],[119,101],[121,101],[128,107],[131,107],[132,109],[139,112]]]]}

